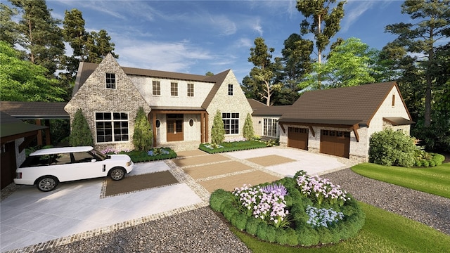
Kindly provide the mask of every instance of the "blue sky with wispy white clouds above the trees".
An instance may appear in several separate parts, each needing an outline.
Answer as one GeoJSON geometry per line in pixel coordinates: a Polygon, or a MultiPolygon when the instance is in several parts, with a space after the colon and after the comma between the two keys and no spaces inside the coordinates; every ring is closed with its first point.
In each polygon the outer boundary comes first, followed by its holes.
{"type": "MultiPolygon", "coordinates": [[[[409,22],[403,1],[347,1],[341,30],[381,49],[395,39],[384,27],[409,22]]],[[[80,1],[48,0],[53,18],[82,11],[88,31],[104,29],[115,43],[120,65],[191,74],[232,69],[238,82],[253,67],[248,62],[256,37],[281,55],[283,42],[300,33],[303,16],[296,1],[80,1]]],[[[67,46],[67,51],[70,47],[67,46]]]]}

